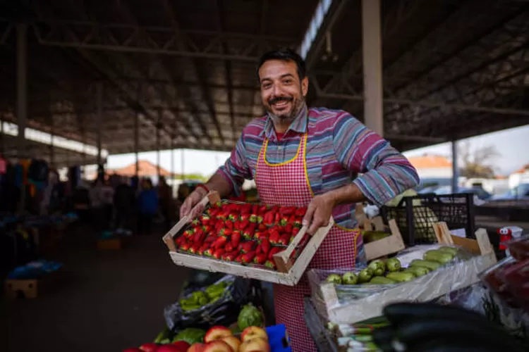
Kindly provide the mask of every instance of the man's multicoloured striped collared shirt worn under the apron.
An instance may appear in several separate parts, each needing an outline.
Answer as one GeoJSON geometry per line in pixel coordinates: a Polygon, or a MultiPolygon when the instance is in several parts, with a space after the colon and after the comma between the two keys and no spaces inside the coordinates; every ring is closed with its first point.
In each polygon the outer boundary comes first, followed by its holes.
{"type": "MultiPolygon", "coordinates": [[[[230,158],[217,173],[232,189],[240,189],[245,179],[253,180],[265,139],[269,140],[267,161],[283,163],[296,156],[305,133],[308,180],[316,195],[353,182],[367,199],[380,206],[419,182],[408,159],[351,114],[306,106],[279,140],[268,115],[246,125],[230,158]]],[[[333,218],[342,227],[358,227],[354,203],[337,206],[333,218]]]]}

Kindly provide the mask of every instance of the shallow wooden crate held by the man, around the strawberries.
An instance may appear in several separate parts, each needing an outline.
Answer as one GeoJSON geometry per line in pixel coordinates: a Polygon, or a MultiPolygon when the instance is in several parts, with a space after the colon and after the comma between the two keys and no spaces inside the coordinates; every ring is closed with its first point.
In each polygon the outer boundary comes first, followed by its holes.
{"type": "MultiPolygon", "coordinates": [[[[217,192],[210,192],[205,196],[200,203],[195,206],[197,208],[204,208],[207,204],[214,204],[220,201],[219,194],[217,192]]],[[[193,210],[191,213],[195,213],[193,210]]],[[[284,251],[276,253],[274,255],[274,262],[276,263],[277,270],[267,270],[264,268],[252,268],[250,266],[244,266],[238,263],[227,262],[224,260],[217,260],[214,258],[207,258],[203,256],[193,256],[186,253],[178,253],[176,251],[176,245],[173,237],[185,227],[192,218],[183,217],[174,227],[165,234],[163,241],[169,249],[169,255],[176,265],[185,266],[187,268],[194,268],[198,270],[208,270],[212,272],[224,272],[226,274],[236,275],[240,277],[246,277],[249,279],[259,279],[266,282],[274,282],[276,284],[284,284],[287,286],[295,286],[298,284],[301,276],[307,269],[312,256],[316,253],[317,249],[320,248],[322,241],[327,236],[327,233],[334,225],[334,220],[329,220],[327,227],[322,227],[320,230],[312,235],[308,244],[305,246],[303,251],[299,254],[298,258],[292,262],[289,258],[291,253],[296,249],[296,246],[303,239],[305,232],[308,230],[307,227],[302,227],[296,237],[294,237],[291,244],[286,247],[284,251]]]]}

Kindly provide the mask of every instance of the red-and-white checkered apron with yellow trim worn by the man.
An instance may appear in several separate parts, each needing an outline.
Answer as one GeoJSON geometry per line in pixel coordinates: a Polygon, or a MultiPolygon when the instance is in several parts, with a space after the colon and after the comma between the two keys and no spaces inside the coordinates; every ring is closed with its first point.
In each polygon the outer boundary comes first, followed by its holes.
{"type": "MultiPolygon", "coordinates": [[[[260,200],[266,204],[281,206],[308,206],[312,201],[312,189],[305,167],[307,135],[301,138],[298,153],[291,161],[270,164],[266,161],[268,139],[259,153],[255,171],[255,184],[260,200]]],[[[359,232],[333,226],[317,250],[308,268],[353,268],[359,232]]],[[[303,298],[310,295],[305,275],[295,287],[274,285],[276,322],[285,324],[291,339],[292,351],[311,352],[317,348],[303,319],[303,298]]]]}

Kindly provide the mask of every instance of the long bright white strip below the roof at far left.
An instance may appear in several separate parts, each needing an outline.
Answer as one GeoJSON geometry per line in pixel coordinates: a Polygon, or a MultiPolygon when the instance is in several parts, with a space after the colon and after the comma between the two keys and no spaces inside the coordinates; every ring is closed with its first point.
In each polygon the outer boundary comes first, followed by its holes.
{"type": "MultiPolygon", "coordinates": [[[[9,136],[16,137],[18,136],[18,126],[11,122],[1,122],[2,123],[2,132],[9,136]]],[[[25,129],[25,139],[29,141],[51,145],[51,134],[47,132],[42,132],[39,130],[34,130],[32,128],[26,127],[25,129]]],[[[69,151],[76,151],[78,153],[85,153],[90,156],[97,156],[97,147],[91,146],[89,144],[83,144],[81,142],[76,142],[71,139],[66,139],[59,136],[53,136],[53,146],[67,149],[69,151]]],[[[106,149],[101,150],[102,158],[107,158],[109,156],[109,151],[106,149]]]]}

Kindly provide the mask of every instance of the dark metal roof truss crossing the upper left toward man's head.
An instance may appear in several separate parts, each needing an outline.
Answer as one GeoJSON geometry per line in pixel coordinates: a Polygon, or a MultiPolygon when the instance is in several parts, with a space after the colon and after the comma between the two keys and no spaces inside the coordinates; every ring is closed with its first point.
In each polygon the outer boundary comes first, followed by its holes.
{"type": "MultiPolygon", "coordinates": [[[[11,23],[11,20],[0,20],[11,23]]],[[[163,54],[190,58],[211,58],[255,62],[257,44],[293,46],[296,39],[263,37],[253,34],[208,31],[176,31],[168,27],[140,27],[137,25],[102,25],[94,22],[35,20],[28,23],[39,44],[81,49],[163,54]],[[126,32],[125,39],[115,32],[126,32]],[[162,33],[162,35],[160,35],[162,33]],[[193,39],[195,37],[195,39],[193,39]],[[199,42],[197,37],[205,40],[199,42]],[[163,39],[162,39],[163,38],[163,39]],[[169,38],[169,39],[167,39],[169,38]],[[225,42],[230,53],[222,53],[217,45],[225,42]],[[183,49],[181,44],[185,43],[183,49]]]]}

